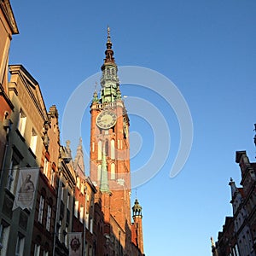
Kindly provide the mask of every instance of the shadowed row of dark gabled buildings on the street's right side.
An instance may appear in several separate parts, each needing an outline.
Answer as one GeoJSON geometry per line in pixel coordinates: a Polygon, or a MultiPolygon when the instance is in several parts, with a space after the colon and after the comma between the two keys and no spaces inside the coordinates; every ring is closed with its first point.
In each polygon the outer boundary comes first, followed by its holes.
{"type": "Polygon", "coordinates": [[[230,179],[233,216],[226,217],[218,241],[212,242],[214,256],[256,255],[256,163],[251,163],[246,151],[236,152],[241,170],[241,188],[230,179]]]}

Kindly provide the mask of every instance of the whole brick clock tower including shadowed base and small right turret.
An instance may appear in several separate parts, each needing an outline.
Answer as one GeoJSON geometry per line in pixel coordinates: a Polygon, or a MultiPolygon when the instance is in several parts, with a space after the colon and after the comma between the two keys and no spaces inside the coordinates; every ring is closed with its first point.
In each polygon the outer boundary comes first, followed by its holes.
{"type": "MultiPolygon", "coordinates": [[[[121,96],[109,27],[106,45],[102,88],[99,96],[97,90],[94,92],[90,105],[90,179],[97,189],[99,215],[103,216],[104,255],[112,255],[118,248],[116,253],[120,255],[141,256],[142,207],[136,201],[136,225],[131,224],[130,123],[121,96]]],[[[102,225],[98,220],[95,224],[102,225]]],[[[96,254],[100,255],[103,254],[96,254]]]]}

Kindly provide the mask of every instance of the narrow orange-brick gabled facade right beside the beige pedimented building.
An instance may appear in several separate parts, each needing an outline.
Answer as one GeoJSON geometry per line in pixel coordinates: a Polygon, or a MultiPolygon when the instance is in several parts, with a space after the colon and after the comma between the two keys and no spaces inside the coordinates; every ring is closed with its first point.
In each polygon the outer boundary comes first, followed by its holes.
{"type": "Polygon", "coordinates": [[[58,111],[55,106],[49,108],[48,119],[44,122],[42,141],[44,144],[38,193],[36,197],[35,217],[32,231],[31,253],[51,255],[54,249],[55,218],[58,191],[58,161],[60,136],[58,111]]]}

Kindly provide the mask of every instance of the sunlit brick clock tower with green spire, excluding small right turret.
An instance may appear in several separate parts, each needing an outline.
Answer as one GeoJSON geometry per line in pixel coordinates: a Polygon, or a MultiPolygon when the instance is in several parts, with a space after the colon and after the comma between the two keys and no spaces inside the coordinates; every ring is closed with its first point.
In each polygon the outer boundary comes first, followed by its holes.
{"type": "Polygon", "coordinates": [[[129,118],[109,27],[106,45],[100,96],[95,92],[90,105],[90,178],[98,191],[109,195],[110,215],[125,230],[125,224],[131,223],[129,118]]]}

